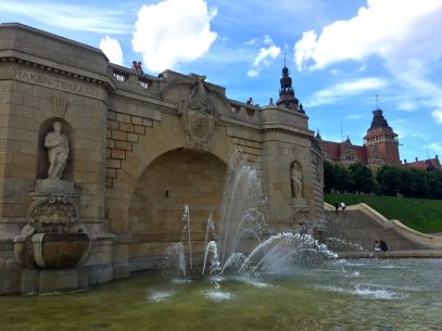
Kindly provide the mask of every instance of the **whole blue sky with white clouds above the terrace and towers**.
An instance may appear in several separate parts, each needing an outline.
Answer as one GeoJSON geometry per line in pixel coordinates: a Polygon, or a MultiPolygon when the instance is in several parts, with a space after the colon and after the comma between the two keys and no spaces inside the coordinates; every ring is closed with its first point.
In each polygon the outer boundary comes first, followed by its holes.
{"type": "Polygon", "coordinates": [[[278,98],[286,54],[324,139],[362,144],[379,94],[402,160],[442,155],[442,0],[0,0],[0,22],[141,60],[153,75],[206,75],[261,105],[278,98]]]}

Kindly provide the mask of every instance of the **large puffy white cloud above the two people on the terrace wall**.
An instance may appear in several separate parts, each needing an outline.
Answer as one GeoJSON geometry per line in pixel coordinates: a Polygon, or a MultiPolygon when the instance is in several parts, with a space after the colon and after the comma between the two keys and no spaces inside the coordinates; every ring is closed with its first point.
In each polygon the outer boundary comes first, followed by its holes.
{"type": "Polygon", "coordinates": [[[211,20],[216,9],[204,0],[165,0],[142,5],[132,37],[134,51],[143,56],[152,72],[174,69],[180,63],[201,58],[215,41],[211,20]]]}

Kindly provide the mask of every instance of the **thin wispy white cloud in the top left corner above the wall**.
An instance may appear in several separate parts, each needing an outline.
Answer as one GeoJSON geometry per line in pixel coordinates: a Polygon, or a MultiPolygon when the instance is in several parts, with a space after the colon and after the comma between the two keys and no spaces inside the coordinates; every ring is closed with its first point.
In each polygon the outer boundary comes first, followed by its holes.
{"type": "Polygon", "coordinates": [[[124,15],[117,10],[103,7],[64,4],[47,1],[0,1],[2,14],[10,13],[41,22],[43,24],[68,30],[99,34],[126,34],[130,25],[123,21],[124,15]]]}

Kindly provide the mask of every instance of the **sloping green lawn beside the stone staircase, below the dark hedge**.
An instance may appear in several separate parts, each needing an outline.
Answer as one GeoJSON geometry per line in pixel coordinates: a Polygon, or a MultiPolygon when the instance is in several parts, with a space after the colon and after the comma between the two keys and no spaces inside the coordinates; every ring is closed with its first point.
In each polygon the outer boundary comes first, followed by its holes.
{"type": "Polygon", "coordinates": [[[331,205],[336,202],[346,205],[364,202],[387,218],[399,219],[417,231],[442,232],[442,200],[334,193],[326,193],[324,200],[331,205]]]}

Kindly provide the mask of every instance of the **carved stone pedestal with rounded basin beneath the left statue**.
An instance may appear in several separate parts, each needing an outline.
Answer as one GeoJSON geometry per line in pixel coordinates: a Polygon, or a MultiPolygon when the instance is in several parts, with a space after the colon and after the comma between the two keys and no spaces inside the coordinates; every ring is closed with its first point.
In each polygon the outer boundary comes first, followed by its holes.
{"type": "Polygon", "coordinates": [[[78,221],[74,183],[37,180],[27,225],[14,239],[15,258],[28,268],[75,267],[89,246],[86,228],[78,221]]]}

